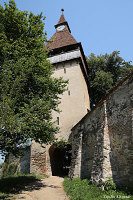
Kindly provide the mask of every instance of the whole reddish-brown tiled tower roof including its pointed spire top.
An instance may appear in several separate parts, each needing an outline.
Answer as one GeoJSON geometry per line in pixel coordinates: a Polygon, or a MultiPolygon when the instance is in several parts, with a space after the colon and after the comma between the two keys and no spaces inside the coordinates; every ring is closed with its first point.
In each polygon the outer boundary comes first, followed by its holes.
{"type": "Polygon", "coordinates": [[[67,21],[64,18],[64,15],[62,14],[58,24],[55,25],[55,27],[59,26],[59,25],[66,25],[65,29],[63,29],[62,31],[56,31],[56,33],[50,38],[50,41],[47,44],[47,49],[48,50],[53,50],[56,48],[61,48],[67,45],[72,45],[72,44],[76,44],[77,41],[74,39],[74,37],[71,35],[70,33],[70,29],[68,26],[67,21]]]}

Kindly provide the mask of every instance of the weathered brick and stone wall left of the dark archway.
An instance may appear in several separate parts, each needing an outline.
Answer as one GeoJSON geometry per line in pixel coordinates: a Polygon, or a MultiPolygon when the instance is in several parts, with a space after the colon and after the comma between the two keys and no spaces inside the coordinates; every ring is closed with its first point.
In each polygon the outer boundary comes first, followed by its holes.
{"type": "Polygon", "coordinates": [[[46,161],[46,146],[41,147],[39,143],[32,141],[30,146],[27,146],[23,155],[19,157],[14,157],[10,155],[8,162],[17,163],[17,171],[27,174],[27,173],[46,173],[47,172],[47,161],[46,161]]]}

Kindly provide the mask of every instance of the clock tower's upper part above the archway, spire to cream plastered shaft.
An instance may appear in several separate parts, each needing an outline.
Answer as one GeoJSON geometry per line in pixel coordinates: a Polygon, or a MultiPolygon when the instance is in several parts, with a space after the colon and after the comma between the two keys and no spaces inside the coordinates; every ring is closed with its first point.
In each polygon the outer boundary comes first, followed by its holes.
{"type": "MultiPolygon", "coordinates": [[[[63,9],[62,9],[63,11],[63,9]]],[[[58,138],[69,139],[71,128],[90,110],[87,88],[86,60],[81,43],[71,35],[70,27],[62,14],[56,32],[48,44],[49,60],[55,65],[55,77],[69,80],[68,91],[61,96],[60,114],[53,113],[60,127],[58,138]]]]}

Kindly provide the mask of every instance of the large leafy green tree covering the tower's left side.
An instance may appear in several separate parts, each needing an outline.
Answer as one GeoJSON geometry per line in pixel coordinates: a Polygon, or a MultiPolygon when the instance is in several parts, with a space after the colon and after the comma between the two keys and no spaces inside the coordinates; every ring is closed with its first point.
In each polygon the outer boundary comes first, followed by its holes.
{"type": "Polygon", "coordinates": [[[54,140],[59,96],[66,81],[53,78],[44,47],[42,13],[20,11],[14,1],[0,6],[0,151],[19,154],[30,140],[54,140]]]}

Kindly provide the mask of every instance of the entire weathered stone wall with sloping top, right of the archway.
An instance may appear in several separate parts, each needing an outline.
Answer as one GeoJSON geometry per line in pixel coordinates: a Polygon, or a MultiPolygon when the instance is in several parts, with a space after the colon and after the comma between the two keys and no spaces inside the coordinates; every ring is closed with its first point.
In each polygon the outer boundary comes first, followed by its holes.
{"type": "MultiPolygon", "coordinates": [[[[133,73],[72,129],[71,177],[133,183],[133,73]]],[[[133,184],[132,184],[133,185],[133,184]]]]}

